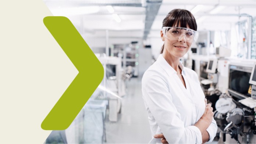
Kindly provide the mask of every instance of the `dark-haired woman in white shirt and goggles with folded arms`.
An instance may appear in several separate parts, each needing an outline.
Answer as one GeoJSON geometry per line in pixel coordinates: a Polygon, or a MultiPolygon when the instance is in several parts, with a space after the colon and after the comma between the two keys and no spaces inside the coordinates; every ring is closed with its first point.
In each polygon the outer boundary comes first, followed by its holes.
{"type": "Polygon", "coordinates": [[[216,135],[213,108],[205,103],[196,72],[179,62],[197,40],[196,30],[195,18],[187,10],[172,10],[163,20],[161,54],[142,78],[150,143],[161,143],[155,134],[163,134],[168,143],[205,143],[216,135]]]}

